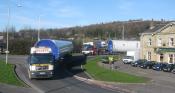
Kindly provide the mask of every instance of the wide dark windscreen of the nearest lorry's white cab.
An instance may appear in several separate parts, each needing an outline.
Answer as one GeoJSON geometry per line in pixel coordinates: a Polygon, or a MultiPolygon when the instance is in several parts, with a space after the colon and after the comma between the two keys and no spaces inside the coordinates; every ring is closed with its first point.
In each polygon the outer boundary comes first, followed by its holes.
{"type": "Polygon", "coordinates": [[[53,57],[51,54],[33,54],[31,55],[31,64],[46,64],[52,63],[53,57]]]}

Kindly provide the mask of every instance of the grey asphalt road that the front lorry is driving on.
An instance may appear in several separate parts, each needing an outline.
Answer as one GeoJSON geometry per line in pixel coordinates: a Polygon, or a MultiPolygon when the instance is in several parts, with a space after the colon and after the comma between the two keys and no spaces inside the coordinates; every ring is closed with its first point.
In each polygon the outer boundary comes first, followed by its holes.
{"type": "MultiPolygon", "coordinates": [[[[0,56],[4,58],[4,56],[0,56]]],[[[43,93],[120,93],[119,91],[108,90],[96,85],[86,84],[68,74],[63,66],[57,67],[56,76],[53,79],[29,80],[25,67],[27,56],[9,56],[9,62],[17,64],[19,77],[30,83],[35,89],[43,93]]],[[[79,58],[78,58],[79,59],[79,58]]],[[[80,58],[81,59],[81,58],[80,58]]],[[[74,60],[75,61],[75,60],[74,60]]],[[[81,62],[82,60],[77,60],[81,62]]],[[[78,74],[78,73],[76,73],[78,74]]]]}

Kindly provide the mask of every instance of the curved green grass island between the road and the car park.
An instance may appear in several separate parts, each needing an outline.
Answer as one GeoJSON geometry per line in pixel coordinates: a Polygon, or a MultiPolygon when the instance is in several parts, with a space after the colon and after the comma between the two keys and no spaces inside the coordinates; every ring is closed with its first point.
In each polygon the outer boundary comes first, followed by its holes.
{"type": "Polygon", "coordinates": [[[148,79],[139,77],[124,72],[108,70],[97,65],[100,62],[100,57],[88,60],[84,68],[94,79],[109,82],[120,82],[120,83],[145,83],[148,79]]]}

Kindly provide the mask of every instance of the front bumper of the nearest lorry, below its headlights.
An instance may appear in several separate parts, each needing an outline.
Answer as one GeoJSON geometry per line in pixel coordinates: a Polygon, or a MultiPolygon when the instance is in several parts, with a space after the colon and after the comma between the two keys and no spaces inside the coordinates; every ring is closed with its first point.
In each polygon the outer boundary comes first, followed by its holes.
{"type": "Polygon", "coordinates": [[[30,71],[31,78],[51,78],[53,71],[30,71]]]}

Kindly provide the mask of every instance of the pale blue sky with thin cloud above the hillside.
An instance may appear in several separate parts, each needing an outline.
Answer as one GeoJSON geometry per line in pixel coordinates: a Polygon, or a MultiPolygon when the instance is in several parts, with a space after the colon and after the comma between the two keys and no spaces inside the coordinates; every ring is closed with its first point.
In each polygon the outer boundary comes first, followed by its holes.
{"type": "Polygon", "coordinates": [[[174,4],[175,0],[0,0],[0,31],[7,27],[8,19],[9,26],[17,30],[130,19],[175,20],[174,4]]]}

